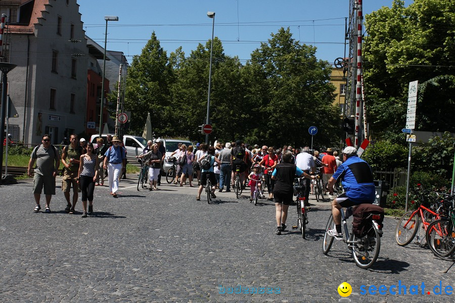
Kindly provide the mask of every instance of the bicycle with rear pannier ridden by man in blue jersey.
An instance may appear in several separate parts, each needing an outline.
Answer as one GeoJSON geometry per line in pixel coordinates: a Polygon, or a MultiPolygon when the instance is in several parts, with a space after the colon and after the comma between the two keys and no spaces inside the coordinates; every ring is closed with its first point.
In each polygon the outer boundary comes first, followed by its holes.
{"type": "MultiPolygon", "coordinates": [[[[362,205],[362,204],[360,204],[362,205]]],[[[357,206],[359,207],[359,206],[357,206]]],[[[347,218],[352,214],[352,207],[348,208],[346,213],[348,213],[347,218]],[[349,211],[348,211],[349,210],[349,211]]],[[[366,226],[366,232],[363,233],[361,237],[357,237],[354,232],[349,234],[348,227],[346,224],[346,217],[344,215],[344,210],[341,209],[341,224],[344,229],[343,242],[347,244],[348,248],[352,252],[352,258],[355,261],[355,264],[362,268],[370,268],[378,259],[379,250],[381,247],[381,236],[382,230],[380,229],[379,224],[376,220],[381,219],[381,215],[375,211],[370,212],[370,215],[365,218],[364,224],[366,226]]],[[[328,234],[329,229],[335,229],[335,222],[333,221],[333,215],[330,215],[329,221],[326,226],[326,233],[324,234],[323,242],[323,253],[327,255],[332,247],[334,237],[328,234]]]]}

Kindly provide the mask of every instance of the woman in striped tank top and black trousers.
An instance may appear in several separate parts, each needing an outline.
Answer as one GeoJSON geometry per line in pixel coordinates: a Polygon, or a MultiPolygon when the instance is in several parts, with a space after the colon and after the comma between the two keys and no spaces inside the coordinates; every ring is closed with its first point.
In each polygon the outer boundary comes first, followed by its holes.
{"type": "Polygon", "coordinates": [[[93,149],[93,143],[87,143],[87,153],[80,156],[77,182],[79,182],[79,188],[82,191],[82,207],[84,209],[82,218],[87,217],[87,199],[88,214],[93,213],[93,191],[98,177],[98,170],[95,168],[99,165],[98,157],[93,153],[93,149]]]}

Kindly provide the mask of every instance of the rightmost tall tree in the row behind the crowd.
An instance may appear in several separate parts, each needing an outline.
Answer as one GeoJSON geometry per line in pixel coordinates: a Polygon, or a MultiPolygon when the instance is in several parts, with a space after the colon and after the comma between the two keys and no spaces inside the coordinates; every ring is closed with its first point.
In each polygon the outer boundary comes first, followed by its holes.
{"type": "Polygon", "coordinates": [[[339,132],[335,87],[329,83],[330,65],[317,60],[316,48],[300,44],[289,28],[271,34],[245,66],[245,103],[255,105],[259,119],[253,133],[267,144],[302,145],[310,140],[307,129],[319,126],[316,144],[335,145],[339,132]],[[256,77],[256,78],[255,78],[256,77]],[[258,94],[258,92],[260,92],[258,94]]]}

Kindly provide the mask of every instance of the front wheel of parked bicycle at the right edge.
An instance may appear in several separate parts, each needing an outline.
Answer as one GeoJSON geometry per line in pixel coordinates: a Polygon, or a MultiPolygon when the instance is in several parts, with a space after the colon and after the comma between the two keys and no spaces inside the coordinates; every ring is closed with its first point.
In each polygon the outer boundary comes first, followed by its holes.
{"type": "Polygon", "coordinates": [[[427,228],[426,239],[433,254],[444,260],[451,260],[455,252],[455,230],[452,221],[436,220],[427,228]]]}

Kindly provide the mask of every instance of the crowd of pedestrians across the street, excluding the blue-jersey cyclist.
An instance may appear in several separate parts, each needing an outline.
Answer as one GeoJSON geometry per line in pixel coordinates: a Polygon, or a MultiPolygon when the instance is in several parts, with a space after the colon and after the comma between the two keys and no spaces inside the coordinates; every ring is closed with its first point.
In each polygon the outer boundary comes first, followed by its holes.
{"type": "MultiPolygon", "coordinates": [[[[108,175],[110,194],[118,196],[119,180],[126,165],[126,150],[117,136],[107,136],[97,139],[94,146],[84,138],[78,140],[72,134],[69,142],[63,146],[60,157],[58,150],[50,143],[48,134],[42,136],[41,145],[36,146],[30,156],[28,175],[32,176],[32,166],[36,162],[33,176],[33,195],[36,206],[34,212],[41,210],[40,195],[45,194],[45,212],[50,213],[50,202],[55,195],[56,176],[60,162],[63,164],[62,191],[67,201],[65,212],[75,213],[79,192],[82,192],[82,217],[94,212],[94,190],[97,185],[104,185],[105,172],[108,175]],[[71,197],[71,189],[73,191],[71,197]],[[87,204],[88,201],[88,204],[87,204]]],[[[342,165],[337,151],[328,148],[323,155],[310,150],[308,146],[301,149],[292,146],[276,148],[272,146],[250,146],[242,141],[215,142],[214,145],[197,143],[193,145],[178,144],[178,148],[171,153],[176,158],[177,174],[175,184],[185,186],[187,178],[189,186],[197,180],[199,185],[196,200],[200,200],[201,192],[206,185],[207,178],[212,183],[211,195],[216,197],[215,191],[230,192],[234,187],[235,178],[241,179],[242,187],[250,186],[250,200],[258,184],[260,197],[265,198],[264,189],[267,189],[268,199],[275,201],[277,234],[286,229],[286,219],[289,205],[293,201],[293,182],[296,176],[306,178],[306,187],[310,188],[310,180],[319,174],[324,180],[324,190],[337,167],[342,165]],[[208,156],[208,157],[207,157],[208,156]],[[202,167],[202,161],[210,161],[209,168],[202,167]],[[196,180],[193,180],[193,177],[196,180]]],[[[142,158],[149,166],[149,190],[157,190],[160,185],[162,164],[166,150],[161,140],[149,140],[144,148],[142,158]]],[[[306,191],[306,201],[309,190],[306,191]]]]}

